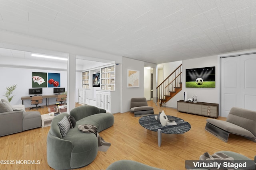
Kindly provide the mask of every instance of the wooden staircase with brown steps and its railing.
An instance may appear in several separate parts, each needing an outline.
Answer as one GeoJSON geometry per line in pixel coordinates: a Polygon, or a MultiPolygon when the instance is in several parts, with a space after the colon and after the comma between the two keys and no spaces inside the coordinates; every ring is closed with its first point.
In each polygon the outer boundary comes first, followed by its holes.
{"type": "Polygon", "coordinates": [[[178,66],[159,86],[156,87],[157,101],[168,102],[182,90],[182,64],[178,66]]]}

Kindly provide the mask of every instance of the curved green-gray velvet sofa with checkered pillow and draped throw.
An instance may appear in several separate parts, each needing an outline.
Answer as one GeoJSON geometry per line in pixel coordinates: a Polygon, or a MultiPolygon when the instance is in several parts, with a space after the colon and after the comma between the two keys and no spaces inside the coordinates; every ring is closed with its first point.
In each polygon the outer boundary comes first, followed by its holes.
{"type": "Polygon", "coordinates": [[[98,153],[98,139],[94,133],[83,133],[78,125],[94,125],[98,132],[114,124],[114,116],[95,106],[79,106],[70,111],[76,121],[62,137],[58,123],[68,113],[53,118],[47,137],[47,162],[54,169],[74,169],[90,164],[98,153]]]}

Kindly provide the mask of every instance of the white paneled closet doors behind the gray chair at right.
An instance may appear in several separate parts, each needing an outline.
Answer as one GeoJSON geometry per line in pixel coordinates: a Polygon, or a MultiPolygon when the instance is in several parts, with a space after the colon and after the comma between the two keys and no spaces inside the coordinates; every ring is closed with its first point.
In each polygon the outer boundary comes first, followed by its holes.
{"type": "Polygon", "coordinates": [[[220,116],[232,107],[256,110],[256,54],[221,59],[220,116]]]}

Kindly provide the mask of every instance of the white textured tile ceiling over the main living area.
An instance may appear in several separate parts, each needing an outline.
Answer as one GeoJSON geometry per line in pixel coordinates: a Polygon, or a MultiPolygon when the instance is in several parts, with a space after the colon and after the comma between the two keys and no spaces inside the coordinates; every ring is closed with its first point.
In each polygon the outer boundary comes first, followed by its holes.
{"type": "Polygon", "coordinates": [[[256,48],[256,0],[0,0],[0,29],[167,63],[256,48]]]}

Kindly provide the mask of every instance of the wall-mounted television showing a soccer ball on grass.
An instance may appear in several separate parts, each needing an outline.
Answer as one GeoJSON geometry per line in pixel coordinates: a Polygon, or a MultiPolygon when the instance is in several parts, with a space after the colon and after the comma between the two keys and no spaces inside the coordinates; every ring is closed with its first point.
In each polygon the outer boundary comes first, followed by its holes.
{"type": "Polygon", "coordinates": [[[215,66],[186,69],[186,88],[215,88],[215,66]]]}

